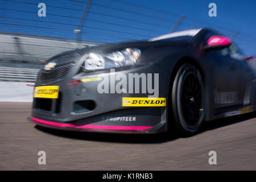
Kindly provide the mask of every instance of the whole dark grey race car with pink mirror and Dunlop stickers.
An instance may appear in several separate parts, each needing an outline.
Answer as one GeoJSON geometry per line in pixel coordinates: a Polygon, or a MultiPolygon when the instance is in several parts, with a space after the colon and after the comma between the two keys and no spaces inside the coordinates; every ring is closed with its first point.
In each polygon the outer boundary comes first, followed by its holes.
{"type": "Polygon", "coordinates": [[[191,135],[203,121],[255,111],[255,72],[206,28],[64,52],[34,88],[31,121],[59,129],[191,135]]]}

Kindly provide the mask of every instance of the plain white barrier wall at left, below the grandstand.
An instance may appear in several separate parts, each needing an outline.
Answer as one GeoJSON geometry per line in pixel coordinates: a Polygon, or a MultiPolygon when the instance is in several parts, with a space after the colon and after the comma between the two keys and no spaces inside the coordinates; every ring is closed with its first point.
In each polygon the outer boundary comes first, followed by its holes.
{"type": "Polygon", "coordinates": [[[0,102],[32,102],[34,83],[0,82],[0,102]]]}

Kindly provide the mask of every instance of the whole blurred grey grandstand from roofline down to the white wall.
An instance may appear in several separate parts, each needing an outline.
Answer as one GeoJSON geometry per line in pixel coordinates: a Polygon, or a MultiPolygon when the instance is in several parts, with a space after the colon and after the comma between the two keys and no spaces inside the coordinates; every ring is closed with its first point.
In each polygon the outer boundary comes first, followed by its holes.
{"type": "Polygon", "coordinates": [[[34,82],[44,60],[102,43],[0,32],[0,81],[34,82]]]}

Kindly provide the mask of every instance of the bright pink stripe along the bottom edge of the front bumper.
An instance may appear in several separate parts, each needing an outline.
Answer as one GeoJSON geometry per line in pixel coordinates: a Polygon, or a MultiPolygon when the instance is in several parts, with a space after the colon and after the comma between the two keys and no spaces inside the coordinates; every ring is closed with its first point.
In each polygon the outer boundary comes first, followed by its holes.
{"type": "Polygon", "coordinates": [[[73,125],[65,123],[56,123],[51,121],[45,121],[31,116],[31,121],[43,125],[49,125],[54,127],[71,127],[81,129],[102,129],[102,130],[146,130],[152,126],[106,126],[106,125],[73,125]]]}

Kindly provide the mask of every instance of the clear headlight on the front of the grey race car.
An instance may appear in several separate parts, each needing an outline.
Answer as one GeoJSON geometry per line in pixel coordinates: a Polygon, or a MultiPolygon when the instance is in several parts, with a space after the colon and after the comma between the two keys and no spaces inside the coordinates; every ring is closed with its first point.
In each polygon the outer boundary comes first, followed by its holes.
{"type": "Polygon", "coordinates": [[[126,48],[111,53],[89,53],[85,59],[85,70],[119,68],[134,65],[141,57],[137,48],[126,48]]]}

